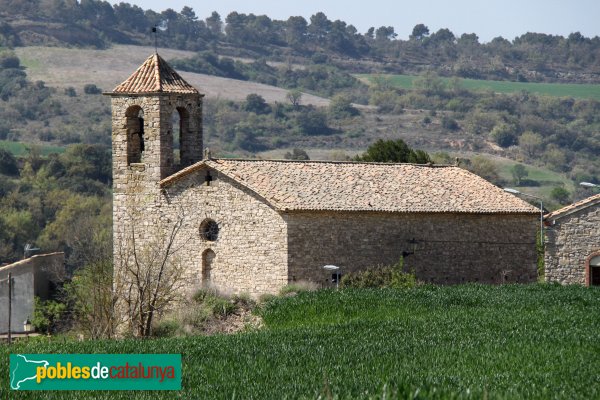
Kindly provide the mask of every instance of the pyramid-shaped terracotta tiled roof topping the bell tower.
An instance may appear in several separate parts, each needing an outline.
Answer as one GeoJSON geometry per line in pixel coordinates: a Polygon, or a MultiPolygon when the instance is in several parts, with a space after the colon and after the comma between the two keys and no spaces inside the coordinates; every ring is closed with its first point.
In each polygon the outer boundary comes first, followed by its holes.
{"type": "Polygon", "coordinates": [[[157,53],[146,61],[112,93],[198,93],[157,53]]]}

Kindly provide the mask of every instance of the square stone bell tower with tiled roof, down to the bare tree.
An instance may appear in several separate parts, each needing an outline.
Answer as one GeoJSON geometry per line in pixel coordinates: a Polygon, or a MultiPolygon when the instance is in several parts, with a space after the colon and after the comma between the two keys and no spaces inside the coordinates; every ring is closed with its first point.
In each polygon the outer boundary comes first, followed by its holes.
{"type": "Polygon", "coordinates": [[[112,92],[115,274],[152,242],[164,200],[159,182],[202,160],[202,97],[158,54],[112,92]]]}

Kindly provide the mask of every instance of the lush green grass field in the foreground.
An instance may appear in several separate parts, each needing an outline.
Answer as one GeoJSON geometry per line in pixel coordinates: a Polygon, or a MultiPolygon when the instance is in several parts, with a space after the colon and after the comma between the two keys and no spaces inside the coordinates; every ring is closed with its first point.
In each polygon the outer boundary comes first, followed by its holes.
{"type": "MultiPolygon", "coordinates": [[[[276,299],[256,332],[17,343],[13,353],[181,353],[183,390],[8,392],[15,399],[600,397],[600,290],[423,286],[276,299]]],[[[0,348],[0,376],[8,349],[0,348]]]]}

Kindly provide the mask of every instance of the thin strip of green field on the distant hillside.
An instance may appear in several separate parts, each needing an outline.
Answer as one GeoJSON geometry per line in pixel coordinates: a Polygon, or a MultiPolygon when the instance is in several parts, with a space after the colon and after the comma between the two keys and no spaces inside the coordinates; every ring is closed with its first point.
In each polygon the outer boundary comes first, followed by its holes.
{"type": "MultiPolygon", "coordinates": [[[[383,78],[392,85],[402,89],[412,89],[413,82],[418,76],[412,75],[356,75],[367,82],[373,82],[374,79],[383,78]]],[[[441,78],[445,83],[449,78],[441,78]]],[[[600,85],[594,84],[575,84],[575,83],[536,83],[536,82],[508,82],[508,81],[487,81],[479,79],[461,79],[462,85],[469,90],[491,90],[496,93],[515,93],[522,90],[546,96],[555,97],[575,97],[580,99],[600,100],[600,85]]]]}

